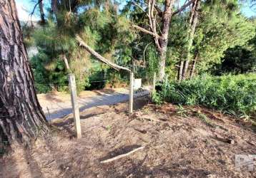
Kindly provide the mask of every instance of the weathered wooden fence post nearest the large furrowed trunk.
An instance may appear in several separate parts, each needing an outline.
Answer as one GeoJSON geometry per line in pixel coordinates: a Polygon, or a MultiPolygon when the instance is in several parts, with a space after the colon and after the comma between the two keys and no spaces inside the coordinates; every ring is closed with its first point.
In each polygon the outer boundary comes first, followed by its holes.
{"type": "Polygon", "coordinates": [[[81,133],[81,125],[80,125],[79,105],[77,103],[77,87],[76,87],[76,80],[74,78],[73,73],[69,74],[69,90],[70,90],[71,100],[72,100],[74,129],[76,131],[77,138],[81,138],[82,133],[81,133]]]}

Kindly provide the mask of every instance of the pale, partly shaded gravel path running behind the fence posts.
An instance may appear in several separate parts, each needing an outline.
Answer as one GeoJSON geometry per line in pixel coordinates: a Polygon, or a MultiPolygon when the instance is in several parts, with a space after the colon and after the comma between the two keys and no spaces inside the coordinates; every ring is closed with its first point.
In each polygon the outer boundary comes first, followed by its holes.
{"type": "MultiPolygon", "coordinates": [[[[134,98],[139,98],[144,95],[149,95],[149,89],[134,91],[134,98]]],[[[79,97],[79,110],[80,112],[95,106],[100,105],[115,105],[129,100],[129,90],[122,89],[114,93],[100,93],[100,95],[79,97]]],[[[53,120],[59,117],[64,117],[72,113],[72,103],[70,96],[65,95],[44,95],[39,96],[39,103],[43,108],[47,120],[53,120]]]]}

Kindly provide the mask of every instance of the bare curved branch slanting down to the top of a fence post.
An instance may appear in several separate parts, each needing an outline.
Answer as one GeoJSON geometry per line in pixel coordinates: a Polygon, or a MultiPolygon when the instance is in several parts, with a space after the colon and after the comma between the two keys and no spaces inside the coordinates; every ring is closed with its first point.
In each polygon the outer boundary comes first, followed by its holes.
{"type": "Polygon", "coordinates": [[[97,53],[96,51],[94,51],[93,48],[91,48],[90,46],[87,45],[87,43],[85,43],[82,38],[80,38],[80,36],[76,36],[77,41],[79,42],[79,45],[84,47],[86,51],[88,51],[89,53],[92,54],[92,56],[94,56],[95,58],[97,58],[97,60],[102,61],[102,63],[107,64],[108,66],[116,69],[116,70],[127,70],[129,73],[132,72],[132,70],[129,70],[129,68],[124,68],[122,66],[118,66],[115,63],[112,63],[111,61],[107,60],[107,58],[104,58],[103,56],[101,56],[99,53],[97,53]]]}

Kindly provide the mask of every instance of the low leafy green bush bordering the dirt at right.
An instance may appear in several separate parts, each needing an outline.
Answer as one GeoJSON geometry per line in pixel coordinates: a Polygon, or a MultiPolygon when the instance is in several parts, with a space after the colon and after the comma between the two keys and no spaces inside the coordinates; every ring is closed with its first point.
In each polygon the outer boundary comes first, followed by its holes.
{"type": "Polygon", "coordinates": [[[202,75],[194,80],[160,85],[157,100],[203,105],[239,117],[256,114],[256,75],[202,75]],[[161,98],[159,98],[161,97],[161,98]]]}

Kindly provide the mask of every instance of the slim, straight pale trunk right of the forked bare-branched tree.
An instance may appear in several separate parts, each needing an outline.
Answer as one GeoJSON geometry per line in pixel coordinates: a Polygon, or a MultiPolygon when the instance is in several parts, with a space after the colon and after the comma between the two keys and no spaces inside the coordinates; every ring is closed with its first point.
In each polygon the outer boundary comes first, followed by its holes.
{"type": "Polygon", "coordinates": [[[186,61],[184,61],[184,66],[182,70],[182,80],[185,80],[187,78],[187,69],[189,67],[189,61],[190,61],[190,51],[192,48],[192,43],[194,40],[195,35],[195,28],[197,26],[198,21],[198,14],[200,9],[200,0],[196,0],[195,3],[192,6],[192,11],[190,14],[190,20],[189,20],[189,41],[187,45],[187,56],[186,61]]]}

